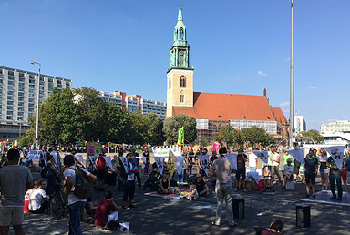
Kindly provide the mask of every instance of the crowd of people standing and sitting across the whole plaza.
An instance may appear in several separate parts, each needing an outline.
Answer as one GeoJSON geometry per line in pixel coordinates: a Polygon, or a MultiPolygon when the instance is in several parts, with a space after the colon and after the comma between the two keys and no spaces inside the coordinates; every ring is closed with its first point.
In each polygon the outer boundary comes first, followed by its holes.
{"type": "MultiPolygon", "coordinates": [[[[258,167],[258,158],[255,154],[252,154],[252,150],[251,147],[245,151],[243,148],[238,149],[237,169],[233,169],[231,163],[225,158],[227,148],[220,148],[218,154],[216,151],[211,151],[208,175],[203,166],[201,166],[199,159],[200,155],[208,154],[206,148],[201,148],[196,153],[194,153],[193,149],[184,152],[184,169],[187,170],[187,181],[190,186],[186,199],[194,200],[200,197],[207,197],[210,195],[207,181],[211,185],[215,184],[217,209],[216,219],[212,222],[213,225],[221,225],[221,211],[222,206],[225,204],[228,224],[232,227],[237,226],[232,214],[233,185],[236,191],[243,190],[246,192],[247,170],[249,172],[257,172],[260,169],[258,167]],[[195,170],[195,178],[190,179],[189,175],[191,175],[193,167],[197,170],[195,170]],[[234,178],[232,173],[235,173],[234,178]]],[[[319,172],[321,189],[328,189],[330,185],[332,191],[331,199],[342,199],[343,191],[347,190],[346,180],[350,178],[346,177],[350,174],[348,173],[348,171],[350,172],[350,159],[344,160],[343,168],[339,169],[335,164],[335,160],[327,157],[327,152],[324,148],[310,148],[304,158],[303,166],[301,162],[293,158],[283,148],[272,146],[268,150],[268,162],[267,164],[262,164],[262,176],[269,175],[273,184],[279,184],[285,189],[288,181],[296,181],[300,178],[302,183],[306,183],[306,197],[312,196],[315,198],[315,177],[319,172]],[[283,166],[280,167],[281,164],[283,166]],[[302,166],[304,169],[303,174],[301,174],[300,170],[302,166]],[[335,182],[337,194],[335,193],[335,182]]],[[[33,160],[26,158],[26,155],[20,153],[17,149],[8,150],[6,158],[2,158],[2,168],[0,169],[0,187],[3,198],[0,207],[1,234],[8,233],[10,224],[13,225],[16,234],[24,234],[22,229],[24,211],[34,214],[49,212],[50,198],[57,190],[57,184],[64,185],[63,193],[67,197],[69,234],[82,234],[80,219],[83,209],[88,209],[91,212],[95,226],[108,228],[108,225],[110,227],[111,224],[117,224],[113,228],[118,228],[118,210],[136,208],[137,204],[134,196],[137,186],[141,190],[146,185],[149,185],[147,182],[144,182],[142,185],[142,171],[143,174],[149,175],[146,181],[152,180],[152,186],[157,187],[159,194],[180,192],[176,180],[173,179],[173,176],[170,176],[170,171],[166,165],[162,174],[160,174],[157,164],[151,165],[148,149],[145,149],[142,153],[142,157],[144,157],[143,167],[140,166],[139,153],[135,149],[131,149],[126,154],[126,164],[123,164],[120,158],[124,157],[124,155],[125,150],[119,149],[118,156],[114,156],[111,160],[111,169],[104,158],[106,150],[102,148],[98,158],[90,159],[86,168],[84,167],[85,164],[77,158],[76,150],[72,150],[70,154],[61,159],[55,149],[51,148],[46,153],[46,158],[44,156],[39,158],[38,165],[43,179],[33,182],[31,171],[36,169],[33,160]],[[21,155],[22,158],[20,158],[21,155]],[[77,184],[78,181],[82,183],[77,184]],[[113,201],[113,192],[104,189],[106,184],[115,185],[117,190],[123,191],[122,205],[117,206],[113,201]],[[88,189],[89,185],[93,185],[95,189],[105,190],[104,199],[101,199],[97,206],[94,206],[92,202],[94,190],[88,189]],[[78,193],[79,191],[80,194],[78,193]]],[[[275,223],[276,221],[273,224],[275,223]]],[[[281,224],[282,222],[277,221],[278,230],[282,231],[281,226],[283,225],[281,224]]],[[[276,227],[275,225],[273,226],[276,227]]],[[[262,234],[280,234],[272,233],[281,232],[273,231],[273,228],[262,234]]]]}

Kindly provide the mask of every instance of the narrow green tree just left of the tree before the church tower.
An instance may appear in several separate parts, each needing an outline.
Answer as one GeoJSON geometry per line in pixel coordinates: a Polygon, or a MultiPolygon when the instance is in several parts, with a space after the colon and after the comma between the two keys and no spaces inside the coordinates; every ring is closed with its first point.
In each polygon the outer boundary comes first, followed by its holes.
{"type": "Polygon", "coordinates": [[[150,145],[163,145],[164,143],[164,132],[163,126],[164,122],[159,115],[155,113],[150,113],[147,116],[148,119],[148,143],[150,145]]]}

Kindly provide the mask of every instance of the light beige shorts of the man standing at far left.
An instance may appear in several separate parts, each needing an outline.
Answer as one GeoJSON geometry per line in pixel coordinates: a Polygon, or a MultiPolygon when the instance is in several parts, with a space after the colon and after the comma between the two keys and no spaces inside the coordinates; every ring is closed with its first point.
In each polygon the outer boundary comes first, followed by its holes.
{"type": "Polygon", "coordinates": [[[22,225],[24,207],[0,206],[0,226],[22,225]]]}

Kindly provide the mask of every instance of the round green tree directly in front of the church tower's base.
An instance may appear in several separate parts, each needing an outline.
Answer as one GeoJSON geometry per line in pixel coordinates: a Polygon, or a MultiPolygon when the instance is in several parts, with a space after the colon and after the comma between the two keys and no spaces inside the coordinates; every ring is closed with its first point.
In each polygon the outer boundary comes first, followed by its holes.
{"type": "Polygon", "coordinates": [[[168,144],[175,144],[178,141],[178,131],[181,127],[184,129],[185,142],[193,143],[195,141],[197,137],[196,119],[179,114],[165,119],[163,132],[168,144]]]}

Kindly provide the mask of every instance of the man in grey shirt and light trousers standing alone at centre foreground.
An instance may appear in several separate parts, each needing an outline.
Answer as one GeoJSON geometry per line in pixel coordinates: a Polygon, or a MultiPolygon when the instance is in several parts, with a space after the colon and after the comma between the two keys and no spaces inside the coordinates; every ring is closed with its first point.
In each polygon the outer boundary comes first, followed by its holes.
{"type": "Polygon", "coordinates": [[[231,180],[232,166],[230,162],[221,154],[221,158],[214,160],[211,167],[211,176],[216,174],[216,186],[215,192],[217,195],[217,208],[215,221],[211,222],[212,225],[221,225],[221,213],[223,199],[225,199],[227,217],[229,226],[237,226],[237,223],[233,220],[232,211],[232,180],[231,180]]]}

